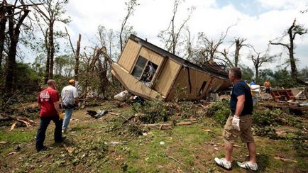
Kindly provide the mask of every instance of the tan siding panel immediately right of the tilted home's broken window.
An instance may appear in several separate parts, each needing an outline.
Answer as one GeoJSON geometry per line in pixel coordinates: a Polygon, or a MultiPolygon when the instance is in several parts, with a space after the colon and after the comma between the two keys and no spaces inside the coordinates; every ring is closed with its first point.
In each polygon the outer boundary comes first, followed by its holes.
{"type": "Polygon", "coordinates": [[[160,72],[160,75],[155,80],[154,89],[160,92],[160,94],[163,94],[163,96],[167,96],[180,67],[181,65],[177,62],[167,59],[161,69],[162,71],[160,72]]]}

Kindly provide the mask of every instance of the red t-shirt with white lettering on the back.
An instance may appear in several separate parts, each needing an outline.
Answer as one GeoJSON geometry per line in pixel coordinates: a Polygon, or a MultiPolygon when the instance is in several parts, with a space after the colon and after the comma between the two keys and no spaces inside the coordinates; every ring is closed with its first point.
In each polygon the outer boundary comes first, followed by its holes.
{"type": "Polygon", "coordinates": [[[40,91],[38,104],[40,104],[40,117],[56,116],[57,111],[53,103],[59,101],[59,94],[55,89],[47,88],[40,91]]]}

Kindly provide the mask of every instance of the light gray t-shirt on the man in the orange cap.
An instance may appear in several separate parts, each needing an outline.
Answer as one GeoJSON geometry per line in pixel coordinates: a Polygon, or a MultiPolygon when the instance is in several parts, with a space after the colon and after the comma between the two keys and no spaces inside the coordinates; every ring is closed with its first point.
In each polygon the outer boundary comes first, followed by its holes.
{"type": "Polygon", "coordinates": [[[75,86],[67,85],[62,89],[61,97],[62,97],[62,104],[74,105],[75,98],[78,97],[78,91],[75,88],[75,86]]]}

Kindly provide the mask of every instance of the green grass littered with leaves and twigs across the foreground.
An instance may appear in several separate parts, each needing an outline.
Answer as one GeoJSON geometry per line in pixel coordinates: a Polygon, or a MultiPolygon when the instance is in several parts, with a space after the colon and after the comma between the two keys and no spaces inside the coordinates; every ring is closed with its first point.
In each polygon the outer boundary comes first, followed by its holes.
{"type": "MultiPolygon", "coordinates": [[[[108,110],[114,106],[104,104],[89,109],[98,108],[108,110]]],[[[126,117],[133,113],[130,107],[114,110],[121,111],[126,117]]],[[[66,145],[74,149],[72,153],[68,153],[62,145],[54,144],[53,128],[49,127],[46,134],[48,150],[38,153],[34,147],[38,127],[16,127],[11,132],[0,128],[0,141],[7,142],[0,144],[0,155],[5,156],[0,157],[0,172],[123,172],[123,169],[126,172],[224,172],[213,161],[214,157],[224,157],[224,147],[204,144],[223,143],[223,128],[216,125],[214,119],[204,118],[199,123],[172,126],[169,130],[143,129],[147,135],[131,135],[121,116],[109,115],[104,117],[106,121],[101,121],[84,116],[84,111],[75,113],[75,118],[80,121],[70,124],[73,133],[66,134],[66,145]],[[110,145],[111,141],[120,144],[110,145]],[[16,145],[21,145],[22,150],[8,155],[16,145]]],[[[299,155],[292,140],[263,137],[255,140],[259,172],[307,172],[307,155],[299,155]],[[275,160],[273,157],[277,156],[296,160],[297,163],[275,160]]],[[[241,147],[234,148],[233,159],[244,161],[248,155],[246,145],[241,140],[237,144],[241,147]]],[[[246,170],[233,162],[233,172],[246,170]]]]}

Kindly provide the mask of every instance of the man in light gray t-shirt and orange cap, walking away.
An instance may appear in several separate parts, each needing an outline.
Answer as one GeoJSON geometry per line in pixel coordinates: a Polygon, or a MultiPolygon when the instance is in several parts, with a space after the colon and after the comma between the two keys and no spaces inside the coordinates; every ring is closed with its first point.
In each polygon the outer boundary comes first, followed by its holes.
{"type": "Polygon", "coordinates": [[[63,121],[62,132],[65,133],[67,126],[70,123],[70,118],[72,117],[72,111],[74,110],[75,104],[79,102],[78,91],[75,88],[75,80],[70,79],[69,85],[62,89],[62,106],[65,109],[65,118],[63,121]]]}

